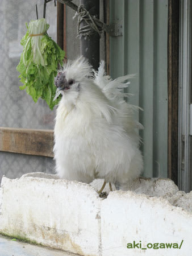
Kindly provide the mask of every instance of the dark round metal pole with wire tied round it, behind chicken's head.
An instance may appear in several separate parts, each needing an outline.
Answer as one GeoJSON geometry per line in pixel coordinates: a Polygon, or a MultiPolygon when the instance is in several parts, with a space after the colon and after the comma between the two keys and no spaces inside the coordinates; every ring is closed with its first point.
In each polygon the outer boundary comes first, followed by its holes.
{"type": "MultiPolygon", "coordinates": [[[[80,5],[84,5],[85,9],[91,15],[96,15],[99,18],[99,1],[98,0],[80,0],[80,5]]],[[[82,22],[82,26],[86,24],[82,22]]],[[[94,69],[99,67],[99,35],[95,32],[90,36],[82,36],[80,39],[81,55],[84,55],[94,69]]]]}

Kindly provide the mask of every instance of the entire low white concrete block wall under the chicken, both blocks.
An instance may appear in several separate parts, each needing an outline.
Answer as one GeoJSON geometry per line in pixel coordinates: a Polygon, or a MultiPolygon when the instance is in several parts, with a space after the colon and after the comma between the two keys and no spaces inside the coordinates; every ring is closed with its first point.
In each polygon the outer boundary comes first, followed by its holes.
{"type": "Polygon", "coordinates": [[[78,255],[192,255],[191,193],[178,192],[169,179],[139,179],[132,191],[101,199],[92,185],[40,173],[3,177],[0,232],[78,255]],[[181,249],[127,248],[182,240],[181,249]]]}

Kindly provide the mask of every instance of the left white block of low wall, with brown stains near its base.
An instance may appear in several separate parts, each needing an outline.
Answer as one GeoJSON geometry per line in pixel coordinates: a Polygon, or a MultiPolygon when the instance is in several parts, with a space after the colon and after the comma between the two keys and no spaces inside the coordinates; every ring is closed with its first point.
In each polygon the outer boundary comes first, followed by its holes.
{"type": "Polygon", "coordinates": [[[0,231],[80,255],[99,255],[97,192],[76,181],[2,179],[0,231]]]}

